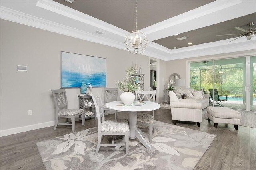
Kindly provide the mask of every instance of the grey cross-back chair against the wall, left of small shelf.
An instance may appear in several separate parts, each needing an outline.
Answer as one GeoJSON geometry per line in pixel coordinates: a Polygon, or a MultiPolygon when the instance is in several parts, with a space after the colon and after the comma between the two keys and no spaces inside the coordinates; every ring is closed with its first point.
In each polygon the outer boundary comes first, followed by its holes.
{"type": "Polygon", "coordinates": [[[83,109],[68,109],[68,99],[66,96],[65,89],[58,89],[58,90],[51,90],[55,107],[56,107],[56,121],[54,130],[56,130],[57,125],[72,125],[72,131],[75,131],[75,117],[81,115],[82,118],[82,125],[84,125],[84,110],[83,109]],[[70,121],[67,120],[66,123],[58,123],[59,117],[64,117],[67,119],[71,119],[70,121]]]}

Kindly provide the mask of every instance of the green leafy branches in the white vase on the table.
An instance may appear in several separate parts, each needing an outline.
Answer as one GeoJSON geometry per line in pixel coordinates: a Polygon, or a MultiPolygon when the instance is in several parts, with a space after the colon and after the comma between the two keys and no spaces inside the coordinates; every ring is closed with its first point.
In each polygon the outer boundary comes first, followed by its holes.
{"type": "Polygon", "coordinates": [[[138,79],[134,76],[134,68],[130,68],[126,71],[126,77],[124,81],[116,81],[118,89],[124,92],[132,92],[135,90],[139,90],[139,83],[136,83],[138,79]]]}

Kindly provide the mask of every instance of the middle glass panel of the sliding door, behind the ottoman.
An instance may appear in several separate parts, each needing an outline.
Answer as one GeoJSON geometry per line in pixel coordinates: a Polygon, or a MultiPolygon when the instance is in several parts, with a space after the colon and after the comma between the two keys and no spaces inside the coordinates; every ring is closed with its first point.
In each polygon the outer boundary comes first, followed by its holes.
{"type": "Polygon", "coordinates": [[[214,88],[221,101],[218,105],[246,109],[246,57],[214,60],[214,88]]]}

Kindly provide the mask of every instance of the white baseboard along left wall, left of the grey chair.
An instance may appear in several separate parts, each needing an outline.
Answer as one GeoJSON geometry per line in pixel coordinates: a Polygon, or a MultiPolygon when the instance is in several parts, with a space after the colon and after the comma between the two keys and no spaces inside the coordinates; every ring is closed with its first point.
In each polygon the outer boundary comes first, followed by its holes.
{"type": "Polygon", "coordinates": [[[51,127],[54,125],[55,125],[55,121],[50,121],[50,122],[44,122],[44,123],[37,123],[34,125],[28,125],[28,126],[24,126],[24,127],[16,127],[16,128],[6,129],[6,130],[0,130],[0,137],[8,136],[11,134],[27,132],[30,130],[36,130],[39,128],[51,127]]]}

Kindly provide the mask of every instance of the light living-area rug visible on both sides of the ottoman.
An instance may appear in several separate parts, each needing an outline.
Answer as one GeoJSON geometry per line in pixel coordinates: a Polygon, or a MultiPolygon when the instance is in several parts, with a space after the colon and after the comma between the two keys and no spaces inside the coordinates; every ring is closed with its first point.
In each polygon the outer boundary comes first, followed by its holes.
{"type": "MultiPolygon", "coordinates": [[[[236,109],[234,109],[236,110],[236,109]]],[[[256,128],[256,113],[251,111],[236,110],[241,113],[240,126],[256,128]]],[[[207,110],[203,109],[202,119],[208,120],[207,110]]]]}

